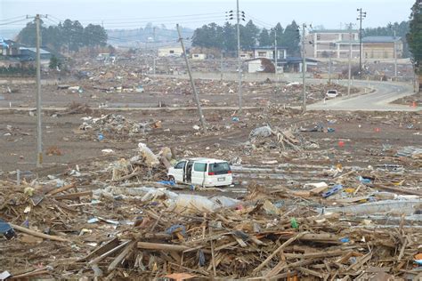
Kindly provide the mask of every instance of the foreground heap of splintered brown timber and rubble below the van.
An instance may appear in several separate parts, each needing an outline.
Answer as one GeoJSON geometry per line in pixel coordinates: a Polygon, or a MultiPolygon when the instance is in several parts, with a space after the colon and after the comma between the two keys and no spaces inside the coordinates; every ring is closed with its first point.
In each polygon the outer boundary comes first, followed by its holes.
{"type": "MultiPolygon", "coordinates": [[[[310,195],[329,197],[335,188],[320,184],[310,195]]],[[[235,200],[145,187],[80,191],[74,184],[2,182],[0,217],[10,238],[4,245],[25,255],[2,254],[2,269],[15,278],[418,275],[422,235],[408,216],[418,216],[420,199],[321,208],[286,191],[251,185],[235,200]],[[26,245],[32,250],[19,252],[26,245]]]]}

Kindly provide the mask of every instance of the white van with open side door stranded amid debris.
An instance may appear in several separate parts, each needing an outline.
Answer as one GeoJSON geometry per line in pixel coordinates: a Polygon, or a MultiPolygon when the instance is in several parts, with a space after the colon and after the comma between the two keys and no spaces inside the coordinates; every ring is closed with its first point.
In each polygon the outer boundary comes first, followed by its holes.
{"type": "Polygon", "coordinates": [[[211,158],[191,158],[177,162],[168,169],[168,179],[176,183],[221,187],[231,185],[233,177],[227,161],[211,158]]]}

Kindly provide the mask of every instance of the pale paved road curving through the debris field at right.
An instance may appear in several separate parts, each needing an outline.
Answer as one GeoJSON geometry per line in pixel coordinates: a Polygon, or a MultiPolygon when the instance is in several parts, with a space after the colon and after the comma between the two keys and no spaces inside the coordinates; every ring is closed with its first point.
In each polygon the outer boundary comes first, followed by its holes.
{"type": "MultiPolygon", "coordinates": [[[[354,81],[355,86],[368,87],[368,82],[354,81]]],[[[397,105],[390,102],[402,97],[412,95],[413,87],[404,83],[370,82],[370,87],[375,92],[363,95],[351,95],[350,97],[339,97],[326,100],[307,106],[310,110],[369,110],[369,111],[418,111],[422,107],[411,107],[411,105],[397,105]]]]}

